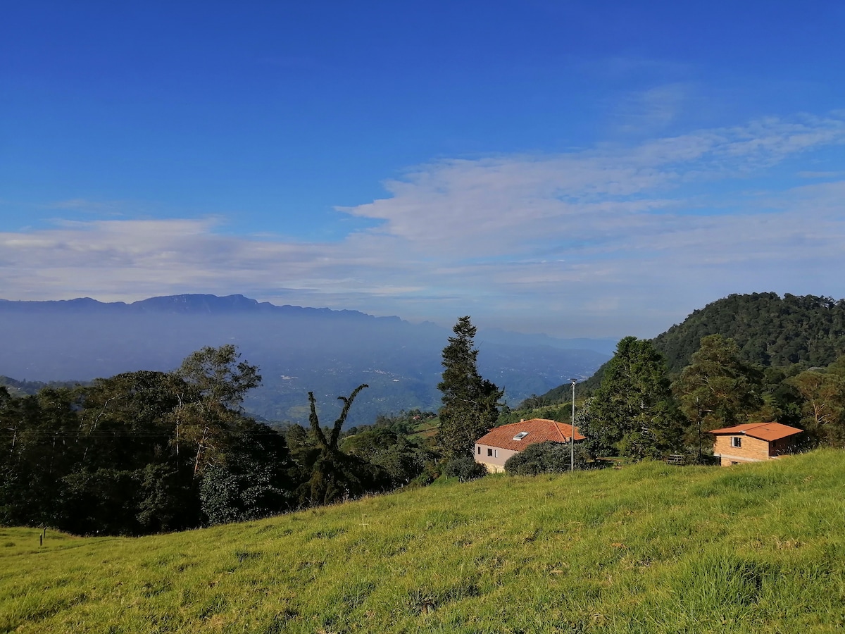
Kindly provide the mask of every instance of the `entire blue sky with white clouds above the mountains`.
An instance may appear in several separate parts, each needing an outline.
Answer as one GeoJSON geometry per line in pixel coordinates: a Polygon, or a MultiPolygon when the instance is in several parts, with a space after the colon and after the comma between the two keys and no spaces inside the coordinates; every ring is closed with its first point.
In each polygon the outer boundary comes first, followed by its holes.
{"type": "Polygon", "coordinates": [[[42,3],[0,25],[0,297],[654,336],[845,297],[845,5],[42,3]]]}

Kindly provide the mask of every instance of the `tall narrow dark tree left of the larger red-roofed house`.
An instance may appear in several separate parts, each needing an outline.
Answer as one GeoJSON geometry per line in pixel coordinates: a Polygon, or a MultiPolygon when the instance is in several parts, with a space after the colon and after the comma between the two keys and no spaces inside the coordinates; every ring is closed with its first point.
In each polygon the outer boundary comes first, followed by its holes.
{"type": "Polygon", "coordinates": [[[447,459],[472,453],[475,441],[496,424],[503,390],[478,374],[476,327],[468,316],[452,329],[455,336],[443,349],[443,378],[438,444],[447,459]]]}

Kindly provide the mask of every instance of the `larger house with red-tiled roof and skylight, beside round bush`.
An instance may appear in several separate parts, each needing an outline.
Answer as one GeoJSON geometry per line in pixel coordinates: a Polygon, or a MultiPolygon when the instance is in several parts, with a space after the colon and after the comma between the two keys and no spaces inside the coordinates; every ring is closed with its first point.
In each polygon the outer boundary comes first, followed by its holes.
{"type": "MultiPolygon", "coordinates": [[[[572,425],[558,423],[547,418],[532,418],[494,427],[476,440],[475,461],[487,467],[490,473],[504,471],[504,462],[529,445],[552,440],[568,443],[572,437],[572,425]]],[[[575,442],[584,440],[578,428],[575,428],[575,442]]]]}

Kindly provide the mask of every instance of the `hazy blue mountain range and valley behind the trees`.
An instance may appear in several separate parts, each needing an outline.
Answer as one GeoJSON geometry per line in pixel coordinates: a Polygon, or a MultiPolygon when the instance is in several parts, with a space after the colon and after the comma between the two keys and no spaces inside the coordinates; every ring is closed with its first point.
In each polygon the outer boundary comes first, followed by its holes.
{"type": "MultiPolygon", "coordinates": [[[[350,424],[378,413],[439,407],[440,352],[451,331],[352,310],[275,306],[242,295],[176,295],[134,303],[90,298],[0,300],[0,374],[25,380],[90,380],[139,369],[172,370],[204,346],[234,343],[259,365],[261,387],[245,407],[270,420],[307,420],[308,391],[325,423],[336,396],[360,383],[350,424]]],[[[555,339],[479,331],[479,370],[514,406],[610,358],[615,340],[555,339]]]]}

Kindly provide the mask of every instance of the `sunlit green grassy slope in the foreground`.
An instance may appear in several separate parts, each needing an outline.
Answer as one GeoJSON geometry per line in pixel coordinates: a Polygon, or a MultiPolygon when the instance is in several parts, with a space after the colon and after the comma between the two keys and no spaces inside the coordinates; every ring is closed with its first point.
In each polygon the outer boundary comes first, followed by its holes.
{"type": "Polygon", "coordinates": [[[0,529],[0,631],[845,628],[845,454],[435,485],[151,538],[0,529]]]}

